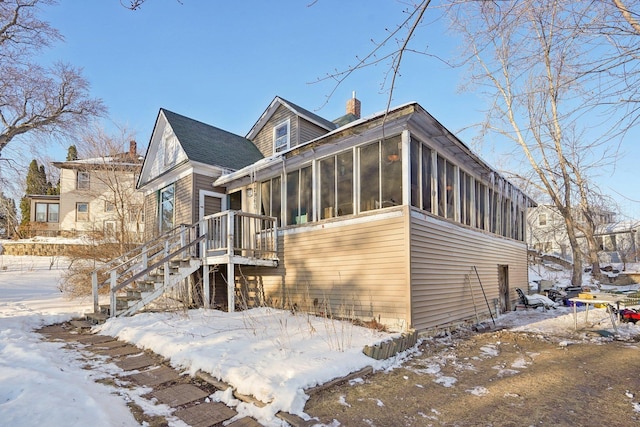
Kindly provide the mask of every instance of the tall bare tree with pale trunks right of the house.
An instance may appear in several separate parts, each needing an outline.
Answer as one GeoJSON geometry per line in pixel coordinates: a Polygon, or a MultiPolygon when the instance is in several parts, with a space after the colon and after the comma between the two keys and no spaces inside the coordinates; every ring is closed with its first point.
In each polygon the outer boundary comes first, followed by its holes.
{"type": "MultiPolygon", "coordinates": [[[[591,57],[594,36],[581,28],[597,18],[588,8],[564,0],[523,0],[461,2],[451,9],[473,58],[470,81],[491,99],[486,131],[520,147],[564,219],[575,285],[582,282],[578,232],[593,237],[595,228],[589,219],[589,171],[615,158],[609,127],[598,129],[601,134],[592,127],[603,111],[596,104],[584,108],[592,87],[583,79],[582,64],[591,57]]],[[[589,261],[598,272],[597,257],[589,261]]]]}

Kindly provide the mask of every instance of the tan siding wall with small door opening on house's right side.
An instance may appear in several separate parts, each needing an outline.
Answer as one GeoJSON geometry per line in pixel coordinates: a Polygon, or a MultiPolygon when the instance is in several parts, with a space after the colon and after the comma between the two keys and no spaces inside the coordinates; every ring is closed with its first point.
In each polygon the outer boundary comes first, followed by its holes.
{"type": "Polygon", "coordinates": [[[499,298],[498,265],[509,266],[509,299],[513,301],[516,287],[527,288],[524,243],[414,214],[411,220],[413,327],[426,329],[475,321],[476,310],[481,320],[488,318],[482,287],[495,315],[494,301],[499,298]],[[478,270],[482,287],[473,266],[478,270]]]}

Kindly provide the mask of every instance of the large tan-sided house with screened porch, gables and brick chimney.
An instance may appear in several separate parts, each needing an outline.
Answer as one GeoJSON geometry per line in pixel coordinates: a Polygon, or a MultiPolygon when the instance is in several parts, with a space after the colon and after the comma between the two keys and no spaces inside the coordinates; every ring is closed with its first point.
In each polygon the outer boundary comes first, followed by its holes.
{"type": "Polygon", "coordinates": [[[360,108],[332,122],[276,97],[244,138],[160,110],[147,230],[201,221],[205,307],[419,330],[512,310],[535,203],[419,104],[360,108]]]}

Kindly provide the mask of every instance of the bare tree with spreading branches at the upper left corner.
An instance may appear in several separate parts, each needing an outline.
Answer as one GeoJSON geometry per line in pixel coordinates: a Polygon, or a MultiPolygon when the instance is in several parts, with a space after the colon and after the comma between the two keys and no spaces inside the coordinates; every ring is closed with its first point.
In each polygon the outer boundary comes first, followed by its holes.
{"type": "Polygon", "coordinates": [[[15,137],[69,135],[106,111],[89,95],[79,68],[56,63],[43,67],[34,55],[62,39],[38,18],[54,0],[0,1],[0,153],[15,137]]]}

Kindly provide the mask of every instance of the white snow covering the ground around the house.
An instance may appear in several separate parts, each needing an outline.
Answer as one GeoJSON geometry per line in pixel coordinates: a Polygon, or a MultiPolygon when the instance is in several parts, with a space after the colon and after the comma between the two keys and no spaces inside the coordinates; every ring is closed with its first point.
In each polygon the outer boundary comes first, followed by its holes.
{"type": "MultiPolygon", "coordinates": [[[[42,341],[33,332],[91,309],[88,298],[71,301],[60,293],[58,281],[67,265],[63,259],[53,261],[49,257],[0,256],[2,424],[138,425],[126,399],[136,400],[144,389],[118,395],[122,393],[113,386],[94,382],[107,374],[117,374],[118,367],[96,363],[94,369],[83,369],[87,362],[80,360],[78,353],[63,349],[62,343],[42,341]]],[[[544,272],[536,274],[549,278],[544,272]]],[[[559,284],[566,281],[560,273],[554,274],[552,279],[559,284]]],[[[602,309],[590,310],[589,321],[611,330],[602,309]]],[[[557,337],[559,342],[605,339],[577,336],[572,309],[567,307],[510,312],[496,322],[498,326],[557,337]]],[[[187,373],[209,372],[239,392],[267,402],[264,408],[256,408],[234,400],[230,393],[211,397],[234,406],[240,416],[250,415],[272,426],[281,425],[274,417],[279,410],[306,416],[304,389],[367,365],[376,370],[392,369],[414,351],[375,361],[365,356],[362,348],[393,334],[269,308],[232,314],[210,310],[145,313],[110,320],[98,330],[151,349],[187,373]]],[[[640,325],[621,324],[619,332],[623,339],[639,335],[640,325]]],[[[144,408],[152,414],[169,414],[163,405],[144,408]]],[[[171,425],[184,425],[169,419],[171,425]]]]}

